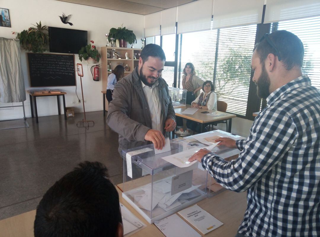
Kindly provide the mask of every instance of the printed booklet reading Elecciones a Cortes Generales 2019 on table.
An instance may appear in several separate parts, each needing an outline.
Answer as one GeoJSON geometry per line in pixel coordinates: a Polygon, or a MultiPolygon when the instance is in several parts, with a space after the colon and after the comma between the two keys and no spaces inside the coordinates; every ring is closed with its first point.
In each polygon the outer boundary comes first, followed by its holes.
{"type": "Polygon", "coordinates": [[[178,214],[203,234],[209,233],[223,225],[221,221],[213,217],[198,205],[181,210],[178,214]]]}

